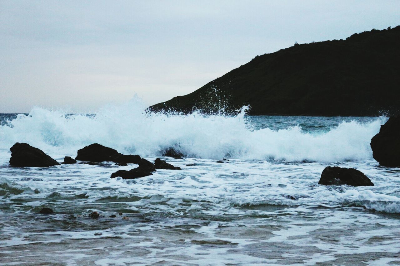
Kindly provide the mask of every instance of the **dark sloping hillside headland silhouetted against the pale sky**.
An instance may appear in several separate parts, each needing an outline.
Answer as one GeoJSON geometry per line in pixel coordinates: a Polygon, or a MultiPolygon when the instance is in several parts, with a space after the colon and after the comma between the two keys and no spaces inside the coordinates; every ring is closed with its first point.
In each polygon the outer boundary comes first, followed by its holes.
{"type": "Polygon", "coordinates": [[[400,26],[256,56],[150,111],[376,116],[400,110],[400,26]]]}

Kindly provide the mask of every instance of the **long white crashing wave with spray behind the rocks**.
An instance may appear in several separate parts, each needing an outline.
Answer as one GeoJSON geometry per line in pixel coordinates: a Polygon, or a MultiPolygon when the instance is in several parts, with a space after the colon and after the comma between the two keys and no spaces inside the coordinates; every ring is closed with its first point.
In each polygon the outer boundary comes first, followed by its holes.
{"type": "Polygon", "coordinates": [[[371,138],[386,118],[368,123],[342,122],[328,132],[305,133],[300,126],[278,131],[254,129],[245,116],[145,113],[139,101],[106,107],[94,116],[33,108],[0,127],[0,149],[26,142],[55,155],[76,155],[91,143],[123,153],[158,156],[175,147],[187,157],[224,157],[283,161],[365,161],[372,158],[371,138]]]}

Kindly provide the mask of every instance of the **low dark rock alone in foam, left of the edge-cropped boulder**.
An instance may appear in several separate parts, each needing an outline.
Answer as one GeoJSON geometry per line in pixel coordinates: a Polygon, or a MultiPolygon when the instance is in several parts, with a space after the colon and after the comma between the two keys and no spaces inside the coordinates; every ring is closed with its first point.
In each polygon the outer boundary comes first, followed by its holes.
{"type": "Polygon", "coordinates": [[[322,171],[320,185],[349,185],[353,187],[373,186],[374,183],[354,168],[325,167],[322,171]]]}

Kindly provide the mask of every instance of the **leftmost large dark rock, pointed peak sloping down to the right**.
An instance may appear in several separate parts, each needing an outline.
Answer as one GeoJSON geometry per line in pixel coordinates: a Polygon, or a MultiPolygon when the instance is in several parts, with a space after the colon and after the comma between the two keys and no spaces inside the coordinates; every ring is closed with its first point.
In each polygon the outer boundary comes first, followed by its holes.
{"type": "Polygon", "coordinates": [[[15,143],[11,148],[10,165],[18,167],[49,167],[60,165],[46,153],[28,143],[15,143]]]}

